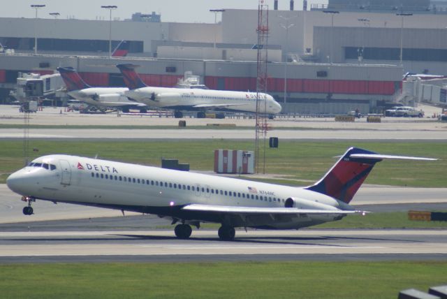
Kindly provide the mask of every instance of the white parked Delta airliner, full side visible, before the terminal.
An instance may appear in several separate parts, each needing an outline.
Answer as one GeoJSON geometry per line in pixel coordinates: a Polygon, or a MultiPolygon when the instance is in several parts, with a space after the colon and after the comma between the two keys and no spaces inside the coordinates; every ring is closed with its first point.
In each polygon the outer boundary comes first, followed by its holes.
{"type": "MultiPolygon", "coordinates": [[[[168,87],[149,87],[140,79],[133,64],[118,64],[124,83],[129,87],[124,92],[129,99],[156,108],[175,110],[177,118],[183,117],[182,110],[199,111],[198,118],[205,117],[206,110],[256,112],[256,92],[228,92],[212,89],[184,89],[168,87]]],[[[276,115],[281,105],[270,94],[259,94],[258,112],[276,115]]]]}

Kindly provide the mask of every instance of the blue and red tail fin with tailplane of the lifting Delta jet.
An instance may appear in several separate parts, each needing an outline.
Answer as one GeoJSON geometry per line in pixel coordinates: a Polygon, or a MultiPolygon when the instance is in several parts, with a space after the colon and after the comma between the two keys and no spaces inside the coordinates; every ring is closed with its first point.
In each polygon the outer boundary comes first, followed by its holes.
{"type": "Polygon", "coordinates": [[[306,189],[349,203],[372,168],[383,159],[437,160],[415,156],[376,154],[365,149],[351,147],[321,180],[306,189]]]}

